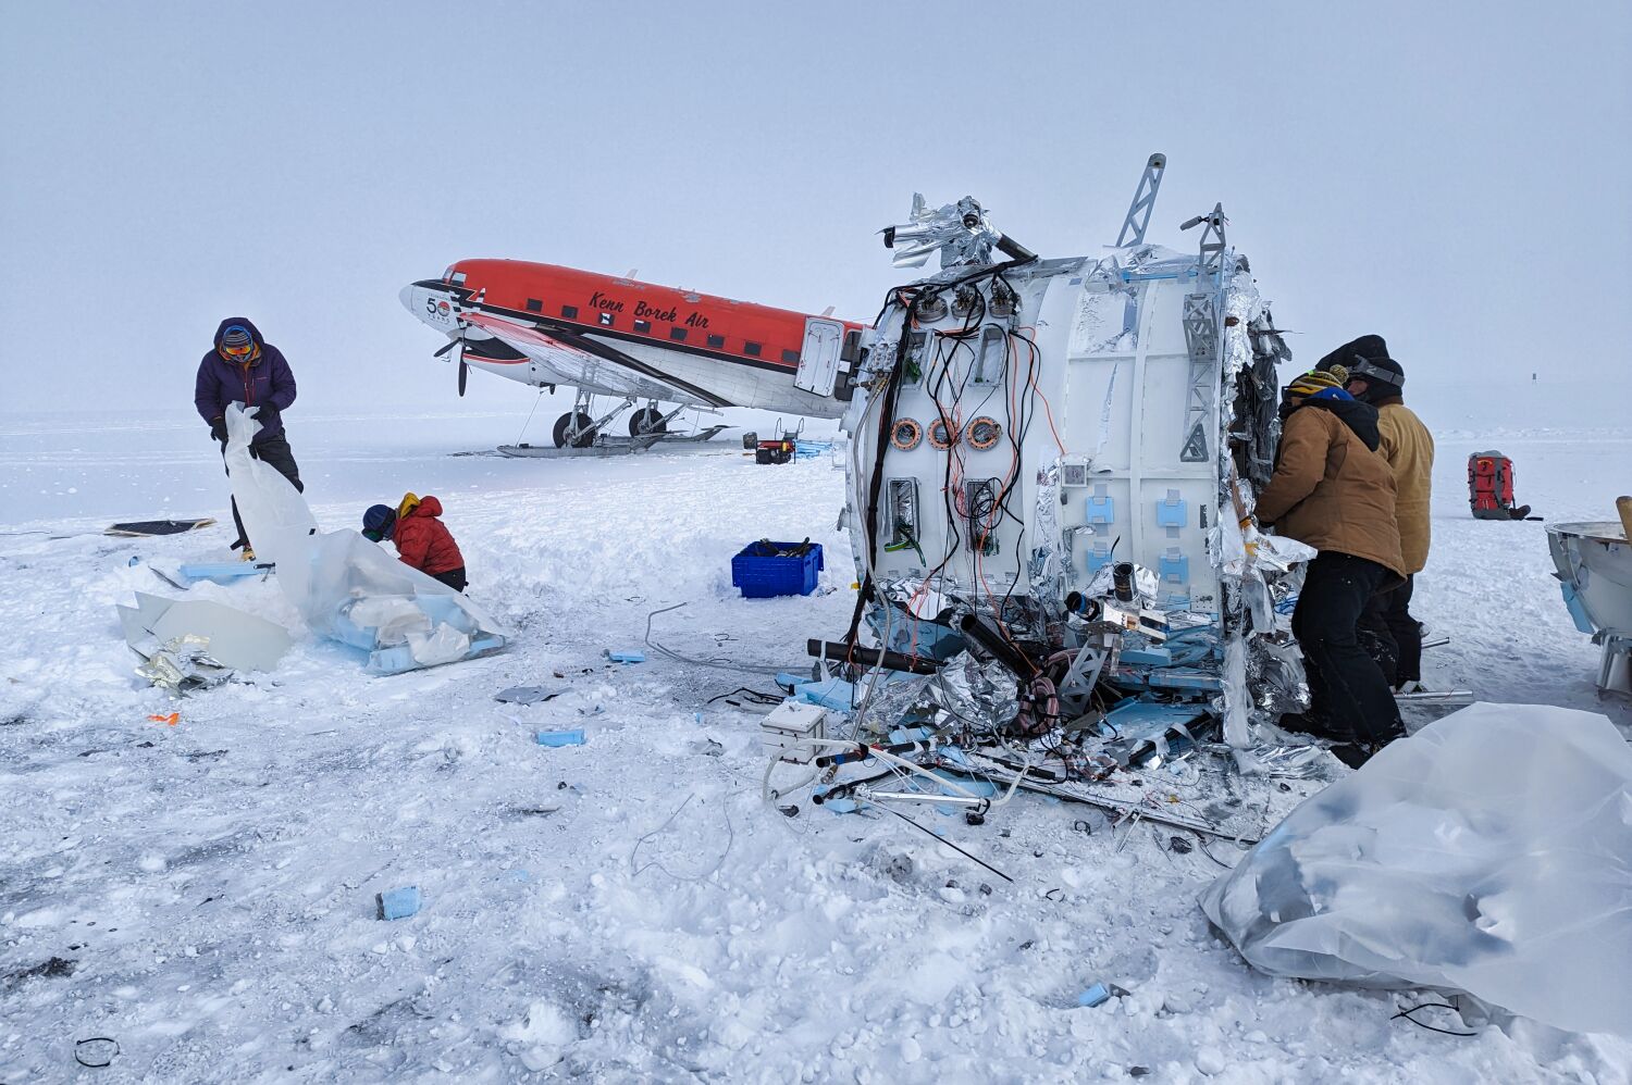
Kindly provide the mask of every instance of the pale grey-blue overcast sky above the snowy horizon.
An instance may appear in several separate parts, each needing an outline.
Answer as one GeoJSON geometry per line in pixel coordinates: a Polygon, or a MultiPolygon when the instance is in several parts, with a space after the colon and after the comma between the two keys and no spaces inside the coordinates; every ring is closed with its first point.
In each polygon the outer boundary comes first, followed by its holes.
{"type": "MultiPolygon", "coordinates": [[[[452,410],[398,289],[571,264],[870,318],[974,194],[1046,256],[1222,201],[1299,361],[1627,395],[1632,3],[11,3],[0,408],[191,400],[224,315],[295,410],[452,410]]],[[[472,379],[468,406],[529,400],[472,379]]],[[[1598,406],[1603,406],[1603,395],[1598,406]]]]}

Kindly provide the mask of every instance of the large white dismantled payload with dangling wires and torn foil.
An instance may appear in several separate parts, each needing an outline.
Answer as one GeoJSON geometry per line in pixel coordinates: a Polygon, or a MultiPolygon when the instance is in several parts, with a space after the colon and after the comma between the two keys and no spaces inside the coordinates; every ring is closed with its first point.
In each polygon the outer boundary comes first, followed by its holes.
{"type": "Polygon", "coordinates": [[[885,230],[940,271],[889,292],[850,375],[862,594],[809,649],[870,675],[854,737],[1064,734],[1058,778],[1092,780],[1216,733],[1250,757],[1253,711],[1302,706],[1288,573],[1314,551],[1252,517],[1291,352],[1222,207],[1190,251],[1146,241],[1164,168],[1097,258],[1038,258],[973,199],[885,230]]]}

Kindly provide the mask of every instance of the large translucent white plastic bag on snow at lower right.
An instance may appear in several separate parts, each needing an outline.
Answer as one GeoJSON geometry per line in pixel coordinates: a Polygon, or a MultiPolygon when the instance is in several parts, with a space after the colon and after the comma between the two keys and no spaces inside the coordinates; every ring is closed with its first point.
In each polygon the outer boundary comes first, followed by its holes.
{"type": "Polygon", "coordinates": [[[1596,713],[1472,705],[1307,799],[1201,907],[1271,976],[1632,1034],[1632,749],[1596,713]]]}

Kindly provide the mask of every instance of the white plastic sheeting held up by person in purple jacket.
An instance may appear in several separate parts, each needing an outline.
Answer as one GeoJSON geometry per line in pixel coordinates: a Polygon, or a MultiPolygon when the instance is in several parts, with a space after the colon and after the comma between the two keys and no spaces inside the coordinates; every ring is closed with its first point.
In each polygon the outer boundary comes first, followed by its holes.
{"type": "Polygon", "coordinates": [[[506,635],[486,612],[354,530],[318,532],[305,498],[250,455],[259,429],[227,408],[227,473],[256,558],[323,636],[369,653],[367,669],[393,674],[498,651],[506,635]]]}

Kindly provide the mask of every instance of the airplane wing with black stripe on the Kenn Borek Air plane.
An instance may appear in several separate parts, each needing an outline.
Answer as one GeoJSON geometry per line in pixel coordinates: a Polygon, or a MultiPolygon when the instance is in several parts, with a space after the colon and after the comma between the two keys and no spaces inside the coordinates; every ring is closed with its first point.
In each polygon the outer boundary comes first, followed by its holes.
{"type": "Polygon", "coordinates": [[[481,328],[530,357],[540,369],[557,375],[548,383],[573,385],[602,395],[636,400],[663,400],[697,406],[731,406],[713,392],[671,377],[619,348],[565,326],[519,325],[503,317],[463,312],[465,323],[481,328]]]}

